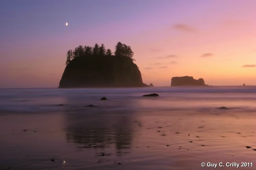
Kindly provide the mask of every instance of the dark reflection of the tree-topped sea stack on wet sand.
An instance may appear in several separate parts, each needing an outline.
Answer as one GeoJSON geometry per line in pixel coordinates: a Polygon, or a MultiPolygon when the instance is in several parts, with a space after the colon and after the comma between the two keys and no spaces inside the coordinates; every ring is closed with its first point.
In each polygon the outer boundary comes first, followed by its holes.
{"type": "Polygon", "coordinates": [[[66,138],[76,143],[77,148],[116,149],[117,155],[127,153],[133,139],[134,113],[106,108],[83,108],[74,112],[74,108],[66,110],[66,138]],[[70,114],[72,113],[72,114],[70,114]],[[120,114],[121,113],[121,114],[120,114]],[[124,113],[124,114],[122,114],[124,113]]]}

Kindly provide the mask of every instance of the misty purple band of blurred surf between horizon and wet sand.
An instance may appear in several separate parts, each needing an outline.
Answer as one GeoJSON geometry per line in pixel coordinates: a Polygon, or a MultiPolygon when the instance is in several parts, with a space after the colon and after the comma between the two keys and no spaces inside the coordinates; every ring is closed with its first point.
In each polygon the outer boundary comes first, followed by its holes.
{"type": "Polygon", "coordinates": [[[256,86],[0,89],[0,114],[62,111],[61,107],[55,107],[58,104],[64,104],[66,107],[94,104],[102,107],[138,109],[138,103],[139,107],[152,109],[213,108],[225,105],[251,111],[256,107],[255,99],[256,86]],[[160,95],[157,100],[141,97],[153,92],[160,95]],[[109,99],[107,104],[99,100],[103,96],[109,99]]]}

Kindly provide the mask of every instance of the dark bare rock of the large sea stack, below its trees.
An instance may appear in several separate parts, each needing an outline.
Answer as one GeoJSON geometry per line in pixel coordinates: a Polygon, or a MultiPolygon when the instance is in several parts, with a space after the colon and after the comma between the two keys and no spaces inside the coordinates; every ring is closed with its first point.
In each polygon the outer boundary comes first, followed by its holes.
{"type": "Polygon", "coordinates": [[[74,58],[59,83],[59,88],[144,86],[147,85],[131,58],[99,55],[74,58]]]}

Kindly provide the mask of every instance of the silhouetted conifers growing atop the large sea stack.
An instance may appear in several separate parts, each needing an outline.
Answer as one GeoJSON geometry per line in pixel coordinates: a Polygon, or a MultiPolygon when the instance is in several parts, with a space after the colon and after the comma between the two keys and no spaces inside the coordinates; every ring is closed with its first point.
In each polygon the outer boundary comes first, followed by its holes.
{"type": "MultiPolygon", "coordinates": [[[[106,50],[104,44],[99,46],[97,43],[94,47],[91,46],[78,46],[74,50],[68,50],[66,57],[66,65],[68,65],[76,57],[87,57],[87,56],[112,56],[112,51],[110,49],[106,50]]],[[[131,46],[127,46],[118,42],[115,46],[115,56],[125,56],[129,57],[134,61],[133,51],[131,46]]]]}

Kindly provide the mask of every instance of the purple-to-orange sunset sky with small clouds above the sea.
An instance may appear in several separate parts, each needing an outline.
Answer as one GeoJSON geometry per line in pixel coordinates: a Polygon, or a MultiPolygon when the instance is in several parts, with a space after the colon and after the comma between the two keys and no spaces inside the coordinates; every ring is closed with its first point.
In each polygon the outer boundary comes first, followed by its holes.
{"type": "Polygon", "coordinates": [[[189,75],[256,85],[255,9],[255,0],[1,0],[0,88],[58,87],[69,49],[114,52],[118,41],[146,84],[189,75]]]}

